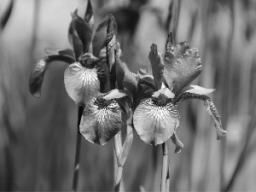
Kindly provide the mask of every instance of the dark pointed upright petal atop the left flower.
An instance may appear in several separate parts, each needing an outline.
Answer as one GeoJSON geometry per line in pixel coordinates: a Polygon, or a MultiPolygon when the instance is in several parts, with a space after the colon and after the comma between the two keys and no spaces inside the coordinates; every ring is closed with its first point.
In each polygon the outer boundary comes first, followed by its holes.
{"type": "Polygon", "coordinates": [[[88,52],[91,38],[92,38],[92,31],[88,23],[86,23],[79,15],[75,13],[71,13],[73,18],[72,27],[78,33],[79,38],[83,43],[83,50],[84,53],[88,52]]]}

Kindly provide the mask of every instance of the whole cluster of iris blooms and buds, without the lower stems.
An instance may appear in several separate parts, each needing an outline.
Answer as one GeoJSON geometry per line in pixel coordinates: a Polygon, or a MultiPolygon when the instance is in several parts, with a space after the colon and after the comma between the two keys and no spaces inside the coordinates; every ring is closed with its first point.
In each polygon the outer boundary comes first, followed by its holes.
{"type": "Polygon", "coordinates": [[[73,50],[47,49],[49,55],[32,70],[29,87],[32,95],[39,97],[49,63],[70,64],[64,73],[64,83],[68,96],[84,106],[80,132],[85,139],[100,145],[108,143],[119,133],[124,121],[122,114],[126,114],[131,132],[135,129],[144,143],[157,145],[171,137],[179,152],[183,144],[176,134],[180,121],[177,106],[187,99],[202,100],[212,115],[218,139],[225,136],[218,111],[207,96],[214,90],[189,85],[202,71],[197,49],[189,48],[187,42],[175,44],[171,32],[164,57],[158,53],[157,45],[152,44],[148,56],[150,67],[135,74],[120,60],[113,15],[106,16],[93,38],[90,1],[84,18],[77,11],[72,18],[68,37],[73,50]],[[105,93],[108,86],[110,91],[105,93]]]}

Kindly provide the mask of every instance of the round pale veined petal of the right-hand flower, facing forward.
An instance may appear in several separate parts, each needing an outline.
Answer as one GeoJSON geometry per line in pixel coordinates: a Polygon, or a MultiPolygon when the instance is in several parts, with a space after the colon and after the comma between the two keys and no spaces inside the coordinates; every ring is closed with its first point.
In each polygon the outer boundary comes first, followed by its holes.
{"type": "Polygon", "coordinates": [[[177,128],[179,113],[172,102],[151,97],[135,110],[133,124],[143,142],[165,143],[177,128]]]}

